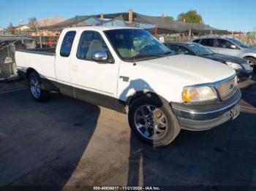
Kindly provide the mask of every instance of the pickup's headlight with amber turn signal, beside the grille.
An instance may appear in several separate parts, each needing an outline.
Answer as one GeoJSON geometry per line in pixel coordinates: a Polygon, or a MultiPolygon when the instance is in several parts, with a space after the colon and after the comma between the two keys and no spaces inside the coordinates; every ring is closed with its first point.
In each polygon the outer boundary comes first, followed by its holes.
{"type": "Polygon", "coordinates": [[[184,87],[182,99],[187,103],[212,101],[217,99],[217,93],[213,87],[208,86],[184,87]]]}

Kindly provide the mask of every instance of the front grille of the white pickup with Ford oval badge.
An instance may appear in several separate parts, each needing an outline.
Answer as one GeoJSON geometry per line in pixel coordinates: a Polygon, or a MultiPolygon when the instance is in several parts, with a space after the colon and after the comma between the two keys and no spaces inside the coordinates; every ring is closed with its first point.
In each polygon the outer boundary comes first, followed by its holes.
{"type": "Polygon", "coordinates": [[[229,98],[230,95],[232,95],[235,90],[236,90],[236,77],[233,77],[232,79],[229,79],[226,82],[222,82],[222,84],[220,84],[218,87],[219,95],[222,98],[222,100],[229,98]]]}

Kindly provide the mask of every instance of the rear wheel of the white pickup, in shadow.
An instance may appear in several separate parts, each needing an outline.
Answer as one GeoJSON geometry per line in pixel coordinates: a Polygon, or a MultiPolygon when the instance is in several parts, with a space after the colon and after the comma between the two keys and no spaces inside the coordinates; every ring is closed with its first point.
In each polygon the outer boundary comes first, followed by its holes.
{"type": "Polygon", "coordinates": [[[42,79],[37,72],[33,71],[29,74],[29,91],[35,101],[43,102],[48,101],[50,93],[47,90],[42,89],[42,79]]]}

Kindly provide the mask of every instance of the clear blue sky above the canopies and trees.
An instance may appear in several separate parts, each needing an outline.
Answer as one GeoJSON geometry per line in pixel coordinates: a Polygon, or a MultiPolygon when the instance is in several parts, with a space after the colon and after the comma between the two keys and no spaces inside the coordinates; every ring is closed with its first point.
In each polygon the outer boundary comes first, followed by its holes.
{"type": "Polygon", "coordinates": [[[256,31],[256,0],[0,0],[0,27],[6,28],[47,17],[70,18],[75,15],[134,12],[160,16],[162,13],[177,19],[178,14],[195,9],[203,22],[229,31],[256,31]],[[255,28],[255,29],[254,29],[255,28]]]}

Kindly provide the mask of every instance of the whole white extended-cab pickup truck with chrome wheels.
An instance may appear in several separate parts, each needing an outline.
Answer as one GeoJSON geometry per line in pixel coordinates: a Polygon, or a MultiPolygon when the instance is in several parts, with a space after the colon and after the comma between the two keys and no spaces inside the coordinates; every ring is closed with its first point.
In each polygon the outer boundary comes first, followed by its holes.
{"type": "Polygon", "coordinates": [[[127,113],[134,133],[154,146],[181,128],[207,130],[240,112],[232,68],[176,55],[138,28],[67,28],[56,50],[18,50],[15,59],[36,101],[58,91],[127,113]]]}

